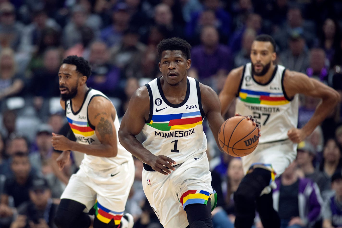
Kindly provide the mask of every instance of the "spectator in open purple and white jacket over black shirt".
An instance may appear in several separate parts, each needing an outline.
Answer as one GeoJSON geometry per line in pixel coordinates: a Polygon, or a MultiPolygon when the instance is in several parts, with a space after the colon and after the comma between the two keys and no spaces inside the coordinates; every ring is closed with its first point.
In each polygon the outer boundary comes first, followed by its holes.
{"type": "Polygon", "coordinates": [[[280,228],[312,226],[320,216],[323,200],[318,186],[308,178],[299,178],[296,161],[276,180],[273,207],[279,213],[280,228]]]}

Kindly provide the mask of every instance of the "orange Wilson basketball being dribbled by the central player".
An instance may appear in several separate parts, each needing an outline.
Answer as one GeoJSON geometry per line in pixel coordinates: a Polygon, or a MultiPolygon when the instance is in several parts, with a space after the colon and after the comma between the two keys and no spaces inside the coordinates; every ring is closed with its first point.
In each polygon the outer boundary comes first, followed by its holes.
{"type": "Polygon", "coordinates": [[[243,157],[252,153],[259,143],[259,130],[245,116],[227,119],[219,130],[219,143],[227,154],[243,157]]]}

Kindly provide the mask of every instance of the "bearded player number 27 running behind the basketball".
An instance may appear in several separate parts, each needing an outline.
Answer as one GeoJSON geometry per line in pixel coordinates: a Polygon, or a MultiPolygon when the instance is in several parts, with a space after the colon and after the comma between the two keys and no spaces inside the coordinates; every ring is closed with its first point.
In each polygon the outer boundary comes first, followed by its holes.
{"type": "Polygon", "coordinates": [[[295,159],[297,143],[309,136],[340,101],[339,94],[323,83],[273,64],[275,48],[271,36],[256,37],[250,53],[251,63],[233,69],[219,95],[222,115],[237,97],[235,112],[253,113],[263,129],[255,151],[241,158],[244,172],[248,173],[234,194],[236,228],[251,227],[255,209],[264,228],[280,227],[269,185],[295,159]],[[322,99],[301,129],[296,128],[298,93],[322,99]]]}

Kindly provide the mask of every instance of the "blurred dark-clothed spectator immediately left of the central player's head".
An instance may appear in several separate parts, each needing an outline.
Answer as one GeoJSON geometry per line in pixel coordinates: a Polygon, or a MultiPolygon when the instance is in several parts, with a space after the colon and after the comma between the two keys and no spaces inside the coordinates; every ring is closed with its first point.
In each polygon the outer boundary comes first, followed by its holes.
{"type": "Polygon", "coordinates": [[[120,68],[123,78],[136,77],[145,50],[146,46],[139,42],[137,28],[129,28],[124,31],[122,41],[111,48],[111,63],[120,68]]]}

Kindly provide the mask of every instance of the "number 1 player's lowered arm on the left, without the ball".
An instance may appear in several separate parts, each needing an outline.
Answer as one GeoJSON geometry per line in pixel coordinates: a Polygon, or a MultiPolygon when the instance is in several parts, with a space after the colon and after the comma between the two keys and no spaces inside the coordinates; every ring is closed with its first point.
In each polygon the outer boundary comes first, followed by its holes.
{"type": "Polygon", "coordinates": [[[124,148],[142,162],[150,165],[159,173],[167,175],[174,170],[175,161],[164,155],[155,156],[135,138],[145,125],[149,116],[149,95],[145,86],[137,89],[132,96],[128,109],[122,117],[119,128],[119,141],[124,148]],[[171,170],[170,170],[171,169],[171,170]]]}

